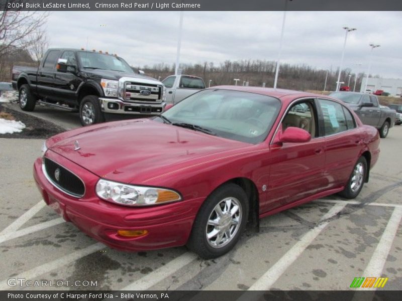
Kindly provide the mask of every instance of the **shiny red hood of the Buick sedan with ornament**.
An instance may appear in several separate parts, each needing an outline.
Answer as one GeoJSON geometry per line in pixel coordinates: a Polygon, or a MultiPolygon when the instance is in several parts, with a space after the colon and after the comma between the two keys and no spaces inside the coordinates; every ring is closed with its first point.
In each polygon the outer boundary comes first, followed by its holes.
{"type": "Polygon", "coordinates": [[[47,144],[99,177],[137,184],[199,164],[202,157],[252,145],[150,119],[72,130],[52,137],[47,144]]]}

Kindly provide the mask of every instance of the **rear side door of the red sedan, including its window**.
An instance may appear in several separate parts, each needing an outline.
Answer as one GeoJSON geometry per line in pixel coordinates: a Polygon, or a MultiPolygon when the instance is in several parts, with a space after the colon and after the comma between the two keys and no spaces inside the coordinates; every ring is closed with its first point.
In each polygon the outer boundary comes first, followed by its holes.
{"type": "Polygon", "coordinates": [[[345,185],[356,164],[363,140],[350,110],[335,101],[318,99],[321,128],[325,138],[326,189],[345,185]]]}

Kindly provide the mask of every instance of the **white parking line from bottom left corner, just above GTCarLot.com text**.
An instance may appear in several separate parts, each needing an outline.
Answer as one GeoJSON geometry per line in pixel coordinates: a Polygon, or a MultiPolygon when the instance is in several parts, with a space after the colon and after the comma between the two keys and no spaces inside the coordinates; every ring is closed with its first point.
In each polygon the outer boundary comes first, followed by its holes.
{"type": "MultiPolygon", "coordinates": [[[[59,259],[50,261],[48,263],[42,264],[40,266],[34,267],[28,271],[24,271],[22,273],[19,273],[16,276],[13,276],[13,278],[25,278],[25,279],[35,279],[35,277],[38,277],[40,275],[43,275],[47,272],[50,272],[51,270],[54,270],[58,267],[61,267],[63,265],[66,265],[70,262],[73,262],[79,258],[82,258],[88,254],[94,253],[96,251],[102,250],[106,248],[106,246],[100,242],[92,244],[84,249],[75,251],[73,253],[70,253],[66,256],[63,256],[59,259]]],[[[7,284],[8,279],[3,279],[0,281],[0,290],[7,290],[10,289],[11,287],[7,284]]]]}

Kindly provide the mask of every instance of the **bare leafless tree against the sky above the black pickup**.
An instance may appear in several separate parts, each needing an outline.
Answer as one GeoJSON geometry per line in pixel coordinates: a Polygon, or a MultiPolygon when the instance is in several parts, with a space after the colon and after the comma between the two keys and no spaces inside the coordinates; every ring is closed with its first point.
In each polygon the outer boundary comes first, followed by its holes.
{"type": "Polygon", "coordinates": [[[7,7],[0,11],[0,57],[11,54],[16,48],[29,49],[34,43],[32,33],[43,33],[47,16],[46,12],[13,11],[7,7]]]}

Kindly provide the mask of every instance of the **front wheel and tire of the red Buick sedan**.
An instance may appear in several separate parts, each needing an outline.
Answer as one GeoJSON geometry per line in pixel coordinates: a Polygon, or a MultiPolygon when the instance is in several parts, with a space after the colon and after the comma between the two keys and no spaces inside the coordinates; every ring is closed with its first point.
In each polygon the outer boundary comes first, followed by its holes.
{"type": "Polygon", "coordinates": [[[225,184],[199,209],[187,247],[205,259],[219,257],[238,242],[247,218],[246,193],[236,184],[225,184]]]}

